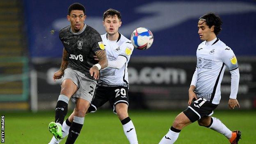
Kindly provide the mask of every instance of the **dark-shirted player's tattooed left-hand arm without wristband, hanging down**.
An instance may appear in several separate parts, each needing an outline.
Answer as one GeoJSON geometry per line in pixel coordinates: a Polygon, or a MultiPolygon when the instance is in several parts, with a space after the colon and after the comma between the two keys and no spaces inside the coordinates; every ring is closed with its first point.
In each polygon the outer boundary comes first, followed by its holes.
{"type": "Polygon", "coordinates": [[[69,65],[69,61],[68,61],[68,52],[65,50],[65,48],[63,48],[63,54],[62,54],[62,64],[60,66],[59,71],[56,71],[53,74],[53,80],[55,81],[56,79],[60,79],[62,78],[62,75],[64,75],[64,70],[67,68],[67,66],[69,65]]]}

